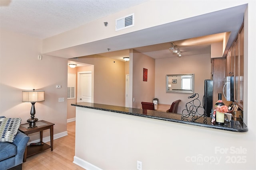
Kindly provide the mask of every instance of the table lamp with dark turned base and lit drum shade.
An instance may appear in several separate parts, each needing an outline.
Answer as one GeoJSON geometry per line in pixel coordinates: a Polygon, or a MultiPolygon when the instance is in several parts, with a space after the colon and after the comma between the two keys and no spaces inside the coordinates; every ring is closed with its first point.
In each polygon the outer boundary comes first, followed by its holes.
{"type": "Polygon", "coordinates": [[[32,104],[30,115],[31,118],[27,120],[28,128],[36,127],[37,118],[35,118],[36,109],[35,103],[44,101],[44,90],[24,90],[22,91],[22,102],[30,102],[32,104]]]}

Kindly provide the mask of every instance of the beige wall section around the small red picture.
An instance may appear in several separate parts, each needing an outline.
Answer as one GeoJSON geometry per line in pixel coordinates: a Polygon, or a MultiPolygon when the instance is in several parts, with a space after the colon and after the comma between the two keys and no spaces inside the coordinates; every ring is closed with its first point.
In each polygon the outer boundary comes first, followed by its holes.
{"type": "Polygon", "coordinates": [[[141,108],[141,102],[153,102],[155,95],[155,59],[133,50],[132,107],[141,108]],[[148,69],[148,81],[143,81],[143,68],[148,69]]]}

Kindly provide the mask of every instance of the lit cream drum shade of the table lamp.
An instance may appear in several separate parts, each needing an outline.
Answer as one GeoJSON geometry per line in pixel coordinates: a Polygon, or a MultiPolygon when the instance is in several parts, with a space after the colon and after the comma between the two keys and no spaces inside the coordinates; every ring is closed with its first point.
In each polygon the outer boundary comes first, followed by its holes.
{"type": "Polygon", "coordinates": [[[22,91],[22,102],[42,102],[42,101],[44,101],[44,90],[22,91]]]}

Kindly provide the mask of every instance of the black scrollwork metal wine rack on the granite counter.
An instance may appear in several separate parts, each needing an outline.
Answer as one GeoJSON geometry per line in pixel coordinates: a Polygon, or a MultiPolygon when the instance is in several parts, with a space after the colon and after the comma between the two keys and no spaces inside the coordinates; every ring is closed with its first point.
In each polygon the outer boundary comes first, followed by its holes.
{"type": "Polygon", "coordinates": [[[190,121],[190,122],[194,122],[196,120],[198,120],[200,117],[203,117],[204,121],[203,123],[206,124],[207,123],[207,114],[204,113],[204,108],[201,107],[201,102],[200,100],[198,100],[199,94],[195,93],[192,96],[189,96],[188,98],[194,98],[196,97],[194,100],[188,102],[186,104],[186,109],[184,109],[182,111],[182,116],[181,116],[181,120],[182,121],[190,121]],[[197,96],[197,97],[196,97],[197,96]]]}

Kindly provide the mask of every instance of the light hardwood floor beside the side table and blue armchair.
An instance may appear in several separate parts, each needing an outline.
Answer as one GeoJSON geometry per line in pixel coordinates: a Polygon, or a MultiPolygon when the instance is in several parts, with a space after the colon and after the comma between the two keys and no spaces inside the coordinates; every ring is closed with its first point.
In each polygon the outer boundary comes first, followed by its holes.
{"type": "Polygon", "coordinates": [[[53,151],[47,149],[28,157],[22,164],[22,170],[84,170],[73,163],[75,127],[76,121],[67,123],[68,135],[54,140],[53,151]]]}

